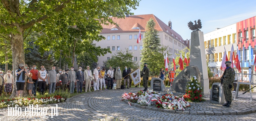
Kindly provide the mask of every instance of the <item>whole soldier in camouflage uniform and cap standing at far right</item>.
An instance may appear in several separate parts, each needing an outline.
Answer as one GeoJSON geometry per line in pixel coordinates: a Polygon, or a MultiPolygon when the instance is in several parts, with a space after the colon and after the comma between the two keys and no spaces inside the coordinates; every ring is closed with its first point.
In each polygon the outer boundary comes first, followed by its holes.
{"type": "Polygon", "coordinates": [[[223,84],[224,96],[227,101],[227,103],[223,104],[223,106],[230,107],[232,102],[231,88],[235,80],[235,71],[233,68],[230,67],[230,61],[226,61],[225,64],[227,68],[225,69],[224,73],[220,78],[221,84],[223,84]]]}

